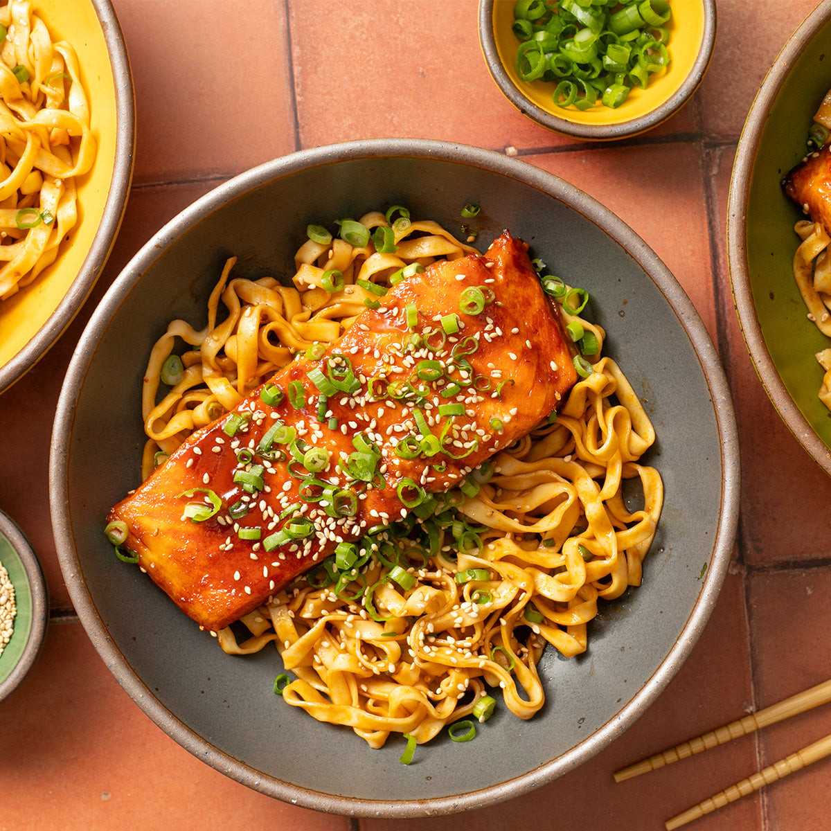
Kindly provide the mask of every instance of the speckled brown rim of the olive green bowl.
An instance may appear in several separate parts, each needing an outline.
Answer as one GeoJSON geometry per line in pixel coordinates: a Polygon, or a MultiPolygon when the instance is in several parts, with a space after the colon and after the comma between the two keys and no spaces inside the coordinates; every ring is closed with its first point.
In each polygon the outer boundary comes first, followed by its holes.
{"type": "Polygon", "coordinates": [[[779,57],[774,61],[774,65],[756,94],[753,106],[750,107],[750,113],[740,135],[730,179],[730,196],[727,205],[727,251],[733,302],[739,316],[745,344],[750,352],[750,359],[754,363],[762,386],[799,444],[809,452],[828,475],[831,475],[831,450],[819,438],[809,420],[803,416],[790,396],[765,344],[765,336],[762,334],[753,302],[753,291],[750,288],[746,244],[746,205],[750,194],[750,179],[770,107],[779,95],[779,90],[794,61],[813,40],[819,29],[829,21],[829,17],[831,17],[831,2],[824,2],[805,18],[802,25],[779,52],[779,57]]]}

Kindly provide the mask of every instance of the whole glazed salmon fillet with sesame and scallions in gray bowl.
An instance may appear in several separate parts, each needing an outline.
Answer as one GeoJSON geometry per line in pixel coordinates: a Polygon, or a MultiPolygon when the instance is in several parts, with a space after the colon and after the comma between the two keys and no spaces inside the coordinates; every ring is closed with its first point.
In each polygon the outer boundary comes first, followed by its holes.
{"type": "Polygon", "coordinates": [[[506,231],[484,256],[390,288],[322,356],[194,432],[108,519],[125,522],[150,578],[219,630],[531,430],[577,380],[574,354],[506,231]]]}

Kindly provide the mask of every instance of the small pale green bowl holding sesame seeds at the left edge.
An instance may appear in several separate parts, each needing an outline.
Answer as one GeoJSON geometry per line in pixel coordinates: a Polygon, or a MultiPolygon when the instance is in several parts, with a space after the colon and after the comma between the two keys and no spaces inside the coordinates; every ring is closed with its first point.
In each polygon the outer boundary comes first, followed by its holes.
{"type": "Polygon", "coordinates": [[[49,601],[41,564],[21,529],[0,511],[0,563],[14,587],[17,615],[12,638],[0,653],[0,701],[37,660],[47,631],[49,601]]]}

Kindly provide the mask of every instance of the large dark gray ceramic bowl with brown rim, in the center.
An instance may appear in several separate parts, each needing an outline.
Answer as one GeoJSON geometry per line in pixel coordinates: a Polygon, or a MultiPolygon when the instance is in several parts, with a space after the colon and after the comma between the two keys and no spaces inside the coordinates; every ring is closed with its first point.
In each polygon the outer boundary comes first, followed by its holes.
{"type": "Polygon", "coordinates": [[[52,519],[66,584],[106,665],[150,718],[199,759],[278,799],[338,814],[420,816],[480,808],[580,765],[655,700],[710,615],[730,559],[739,468],[730,394],[701,320],[625,224],[578,189],[520,160],[428,140],[305,150],[199,199],[136,254],[72,358],[52,439],[52,519]],[[591,624],[588,654],[543,656],[548,705],[524,722],[502,708],[475,742],[440,738],[398,763],[273,695],[276,652],[230,657],[102,534],[138,483],[141,378],[172,317],[201,325],[231,253],[249,276],[287,278],[308,223],[406,204],[458,229],[482,204],[479,243],[509,228],[592,293],[593,317],[642,391],[666,507],[642,588],[591,624]],[[117,367],[117,371],[114,371],[117,367]],[[648,637],[644,635],[648,632],[648,637]],[[487,765],[481,764],[487,759],[487,765]]]}

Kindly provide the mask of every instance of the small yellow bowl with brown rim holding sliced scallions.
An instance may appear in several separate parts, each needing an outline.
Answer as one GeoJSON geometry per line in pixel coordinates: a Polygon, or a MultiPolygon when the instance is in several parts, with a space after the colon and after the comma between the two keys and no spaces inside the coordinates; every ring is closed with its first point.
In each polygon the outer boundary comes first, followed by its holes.
{"type": "Polygon", "coordinates": [[[524,116],[578,139],[622,139],[651,130],[681,109],[710,64],[715,43],[715,0],[676,0],[671,7],[670,66],[652,76],[646,89],[633,88],[616,109],[597,105],[583,111],[557,106],[552,82],[519,78],[519,38],[511,29],[514,0],[479,2],[479,42],[497,86],[524,116]]]}

